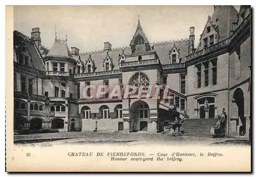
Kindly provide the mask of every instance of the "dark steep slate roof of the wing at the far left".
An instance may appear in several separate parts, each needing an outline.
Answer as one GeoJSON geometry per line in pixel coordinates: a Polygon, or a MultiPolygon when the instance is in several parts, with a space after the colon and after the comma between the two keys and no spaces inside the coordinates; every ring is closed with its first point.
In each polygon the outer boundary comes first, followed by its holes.
{"type": "Polygon", "coordinates": [[[17,49],[21,42],[25,43],[29,51],[29,54],[32,58],[32,67],[37,70],[45,71],[44,60],[40,58],[40,52],[39,50],[37,50],[34,43],[30,41],[30,38],[28,36],[15,30],[13,32],[13,48],[17,49]]]}

